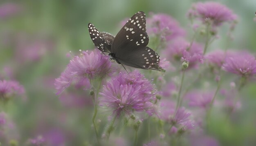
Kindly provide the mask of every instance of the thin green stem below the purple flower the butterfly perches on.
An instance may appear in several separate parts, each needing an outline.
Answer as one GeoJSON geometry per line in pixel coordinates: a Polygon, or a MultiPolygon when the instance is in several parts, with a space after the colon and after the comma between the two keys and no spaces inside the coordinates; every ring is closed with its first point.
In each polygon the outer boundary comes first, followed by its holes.
{"type": "MultiPolygon", "coordinates": [[[[93,116],[92,116],[92,123],[93,123],[93,126],[94,126],[94,131],[96,133],[98,144],[99,144],[100,138],[99,138],[99,132],[98,132],[98,129],[97,129],[97,124],[95,123],[95,118],[96,118],[96,115],[97,115],[97,112],[98,112],[98,95],[99,95],[99,89],[101,88],[101,81],[102,81],[102,79],[100,79],[100,81],[99,81],[99,86],[98,86],[97,91],[96,91],[97,93],[96,93],[95,98],[94,98],[94,113],[93,113],[93,116]]],[[[92,86],[92,84],[91,84],[91,86],[92,86]]]]}

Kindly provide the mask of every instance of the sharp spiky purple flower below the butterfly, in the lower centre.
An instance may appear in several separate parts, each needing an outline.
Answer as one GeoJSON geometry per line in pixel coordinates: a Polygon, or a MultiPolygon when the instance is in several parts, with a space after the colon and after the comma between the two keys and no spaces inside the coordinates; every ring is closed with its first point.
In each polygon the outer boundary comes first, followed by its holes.
{"type": "Polygon", "coordinates": [[[100,104],[113,110],[119,116],[122,112],[131,114],[132,111],[146,111],[153,114],[153,86],[139,71],[119,73],[110,82],[103,86],[99,93],[100,104]]]}

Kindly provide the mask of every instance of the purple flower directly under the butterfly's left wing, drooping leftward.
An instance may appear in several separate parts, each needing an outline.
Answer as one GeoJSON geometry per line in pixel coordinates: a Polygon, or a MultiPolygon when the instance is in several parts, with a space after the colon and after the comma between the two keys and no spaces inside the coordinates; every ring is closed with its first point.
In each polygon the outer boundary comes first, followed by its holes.
{"type": "Polygon", "coordinates": [[[111,63],[107,56],[99,51],[83,51],[80,56],[75,56],[67,65],[61,76],[55,79],[54,85],[57,95],[74,82],[82,82],[86,79],[103,78],[112,74],[111,63]]]}

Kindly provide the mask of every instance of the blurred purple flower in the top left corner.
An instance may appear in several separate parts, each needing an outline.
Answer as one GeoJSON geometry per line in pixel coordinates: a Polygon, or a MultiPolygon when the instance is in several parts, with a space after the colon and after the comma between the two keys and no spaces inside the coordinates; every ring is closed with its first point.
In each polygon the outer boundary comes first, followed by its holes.
{"type": "Polygon", "coordinates": [[[5,3],[0,5],[0,18],[11,17],[21,11],[21,7],[15,3],[5,3]]]}

